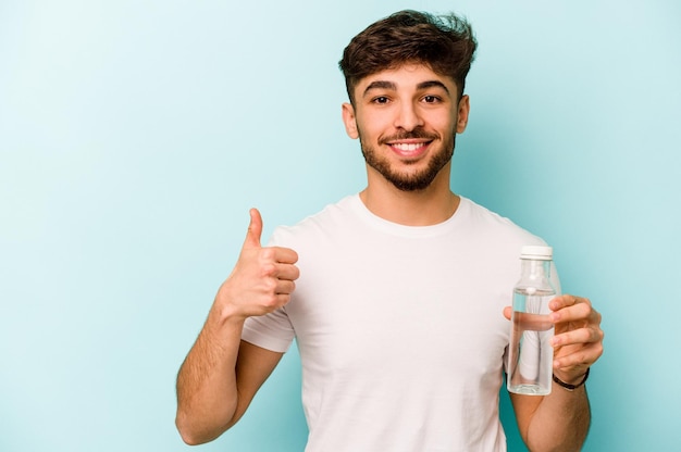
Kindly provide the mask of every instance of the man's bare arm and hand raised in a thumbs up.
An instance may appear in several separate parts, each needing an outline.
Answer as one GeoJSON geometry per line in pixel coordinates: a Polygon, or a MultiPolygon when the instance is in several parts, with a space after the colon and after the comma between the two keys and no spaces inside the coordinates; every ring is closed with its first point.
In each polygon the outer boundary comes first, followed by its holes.
{"type": "Polygon", "coordinates": [[[250,214],[239,259],[177,375],[175,424],[188,444],[211,441],[236,424],[282,357],[242,341],[242,331],[246,318],[288,303],[298,256],[261,248],[262,218],[256,210],[250,214]]]}

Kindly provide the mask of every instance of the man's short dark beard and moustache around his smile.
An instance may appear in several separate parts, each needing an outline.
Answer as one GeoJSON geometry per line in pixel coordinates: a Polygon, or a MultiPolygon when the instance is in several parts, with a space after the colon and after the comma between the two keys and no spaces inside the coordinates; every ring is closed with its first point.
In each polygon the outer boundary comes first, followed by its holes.
{"type": "MultiPolygon", "coordinates": [[[[414,129],[409,133],[379,139],[379,146],[389,141],[409,138],[424,138],[433,140],[438,137],[432,134],[428,134],[423,130],[414,129]]],[[[435,176],[437,176],[439,171],[445,167],[445,165],[451,160],[451,156],[454,155],[455,141],[456,133],[453,133],[449,137],[445,137],[445,140],[442,143],[442,148],[435,150],[434,154],[430,156],[430,161],[428,162],[425,168],[412,173],[400,172],[394,168],[391,165],[391,161],[380,155],[379,152],[376,152],[376,150],[373,148],[373,146],[364,142],[364,140],[362,139],[362,134],[359,134],[359,142],[367,164],[377,171],[387,181],[393,184],[397,189],[401,191],[417,191],[428,188],[435,179],[435,176]]],[[[418,159],[403,160],[403,164],[407,166],[414,165],[418,162],[418,159]]]]}

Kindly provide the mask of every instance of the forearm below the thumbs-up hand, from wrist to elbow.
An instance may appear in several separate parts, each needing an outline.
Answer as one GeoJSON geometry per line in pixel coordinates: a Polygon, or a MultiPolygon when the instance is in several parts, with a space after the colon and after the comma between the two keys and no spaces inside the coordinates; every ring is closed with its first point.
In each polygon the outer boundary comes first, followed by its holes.
{"type": "Polygon", "coordinates": [[[243,321],[211,312],[177,375],[175,423],[190,444],[218,438],[232,424],[238,404],[235,365],[243,321]]]}

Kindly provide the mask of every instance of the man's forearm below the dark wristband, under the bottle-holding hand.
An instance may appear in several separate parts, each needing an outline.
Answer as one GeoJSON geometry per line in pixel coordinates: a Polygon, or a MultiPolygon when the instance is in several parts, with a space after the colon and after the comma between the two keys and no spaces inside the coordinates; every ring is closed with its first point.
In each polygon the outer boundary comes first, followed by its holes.
{"type": "Polygon", "coordinates": [[[525,442],[533,452],[579,451],[591,424],[586,388],[568,391],[553,385],[552,393],[544,397],[527,427],[525,442]]]}

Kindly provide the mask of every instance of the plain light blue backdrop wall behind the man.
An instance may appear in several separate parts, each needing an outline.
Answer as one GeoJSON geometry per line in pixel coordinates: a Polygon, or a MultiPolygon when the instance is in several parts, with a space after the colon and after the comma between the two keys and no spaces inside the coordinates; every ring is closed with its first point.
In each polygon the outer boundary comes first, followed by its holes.
{"type": "MultiPolygon", "coordinates": [[[[189,449],[175,374],[248,208],[268,234],[362,188],[336,63],[403,8],[478,33],[456,191],[603,313],[585,450],[677,450],[680,4],[0,1],[0,450],[189,449]]],[[[300,451],[297,360],[196,450],[300,451]]]]}

